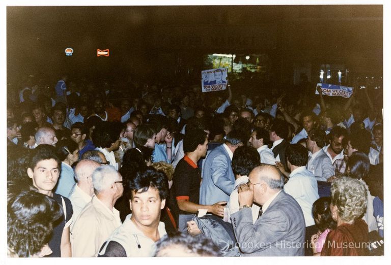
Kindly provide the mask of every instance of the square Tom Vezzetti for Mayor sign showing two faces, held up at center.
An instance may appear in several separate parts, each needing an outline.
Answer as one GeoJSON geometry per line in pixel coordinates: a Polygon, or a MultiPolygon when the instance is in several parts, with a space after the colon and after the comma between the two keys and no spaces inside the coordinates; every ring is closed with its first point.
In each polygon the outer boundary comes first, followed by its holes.
{"type": "Polygon", "coordinates": [[[227,68],[204,70],[201,77],[202,92],[227,89],[227,68]]]}

